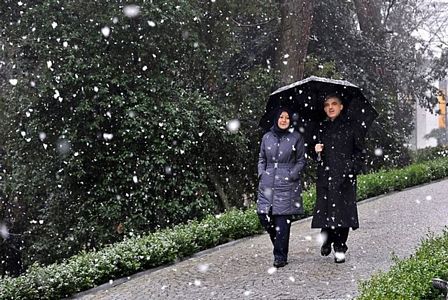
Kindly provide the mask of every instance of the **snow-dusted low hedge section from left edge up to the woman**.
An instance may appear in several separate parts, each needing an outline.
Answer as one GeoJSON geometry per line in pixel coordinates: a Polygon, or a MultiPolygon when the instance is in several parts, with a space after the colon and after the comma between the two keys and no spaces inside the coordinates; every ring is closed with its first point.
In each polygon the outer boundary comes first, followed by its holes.
{"type": "Polygon", "coordinates": [[[200,250],[261,231],[255,210],[230,210],[203,221],[130,238],[96,252],[83,252],[49,266],[34,264],[17,278],[4,278],[1,299],[60,299],[97,284],[172,263],[200,250]]]}

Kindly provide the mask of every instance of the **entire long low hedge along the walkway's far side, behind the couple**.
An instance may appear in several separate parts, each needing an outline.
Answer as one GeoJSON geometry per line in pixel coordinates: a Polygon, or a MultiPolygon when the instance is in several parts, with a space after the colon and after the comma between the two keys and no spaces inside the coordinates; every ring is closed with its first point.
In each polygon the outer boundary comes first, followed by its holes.
{"type": "MultiPolygon", "coordinates": [[[[358,178],[358,200],[402,190],[448,176],[448,158],[380,171],[358,178]]],[[[315,189],[305,192],[305,216],[311,215],[315,189]]],[[[1,299],[60,299],[115,278],[172,263],[198,251],[262,232],[256,211],[229,210],[202,221],[127,239],[96,252],[82,252],[62,263],[35,264],[19,277],[0,283],[1,299]]]]}

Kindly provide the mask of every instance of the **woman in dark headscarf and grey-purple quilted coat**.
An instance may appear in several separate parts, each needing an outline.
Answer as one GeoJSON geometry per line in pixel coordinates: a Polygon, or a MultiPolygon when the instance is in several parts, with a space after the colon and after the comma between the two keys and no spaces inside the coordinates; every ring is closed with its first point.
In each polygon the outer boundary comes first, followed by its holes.
{"type": "Polygon", "coordinates": [[[291,127],[291,117],[286,108],[277,111],[258,157],[257,213],[274,246],[277,268],[288,263],[291,216],[303,213],[300,174],[305,167],[305,147],[303,137],[291,127]]]}

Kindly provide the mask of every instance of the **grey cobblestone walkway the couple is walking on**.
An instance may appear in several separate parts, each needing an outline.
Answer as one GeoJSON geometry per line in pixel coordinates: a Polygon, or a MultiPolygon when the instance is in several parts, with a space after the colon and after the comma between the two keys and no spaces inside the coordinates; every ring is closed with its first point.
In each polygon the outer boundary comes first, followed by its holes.
{"type": "Polygon", "coordinates": [[[414,252],[429,231],[448,225],[448,180],[359,204],[345,264],[321,257],[311,219],[291,229],[289,264],[272,267],[266,234],[207,250],[78,295],[77,299],[351,299],[358,282],[414,252]],[[119,284],[117,284],[119,283],[119,284]]]}

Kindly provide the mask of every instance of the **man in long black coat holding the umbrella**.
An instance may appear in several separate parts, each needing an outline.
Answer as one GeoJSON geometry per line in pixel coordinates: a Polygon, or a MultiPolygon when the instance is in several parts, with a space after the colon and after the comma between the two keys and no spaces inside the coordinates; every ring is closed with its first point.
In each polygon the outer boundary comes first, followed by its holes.
{"type": "Polygon", "coordinates": [[[317,153],[317,200],[312,228],[322,228],[321,254],[335,251],[335,262],[345,262],[350,227],[359,227],[356,206],[356,174],[362,168],[362,137],[343,114],[344,105],[337,95],[324,101],[327,120],[320,124],[317,153]]]}

